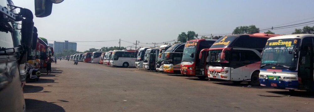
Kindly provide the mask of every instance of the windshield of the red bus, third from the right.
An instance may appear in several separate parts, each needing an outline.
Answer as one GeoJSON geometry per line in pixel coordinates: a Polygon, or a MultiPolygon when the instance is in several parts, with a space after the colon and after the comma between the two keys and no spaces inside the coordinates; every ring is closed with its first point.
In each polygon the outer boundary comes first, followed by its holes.
{"type": "Polygon", "coordinates": [[[193,62],[195,60],[197,46],[198,46],[198,42],[196,41],[187,42],[185,44],[185,47],[183,50],[182,62],[183,61],[193,62]]]}

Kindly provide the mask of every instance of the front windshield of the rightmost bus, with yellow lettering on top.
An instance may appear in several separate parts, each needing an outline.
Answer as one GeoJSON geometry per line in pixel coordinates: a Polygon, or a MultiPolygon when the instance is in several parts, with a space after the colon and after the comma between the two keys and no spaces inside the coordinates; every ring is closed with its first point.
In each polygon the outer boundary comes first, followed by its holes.
{"type": "Polygon", "coordinates": [[[269,40],[263,51],[261,68],[296,70],[297,58],[294,50],[300,39],[269,40]]]}

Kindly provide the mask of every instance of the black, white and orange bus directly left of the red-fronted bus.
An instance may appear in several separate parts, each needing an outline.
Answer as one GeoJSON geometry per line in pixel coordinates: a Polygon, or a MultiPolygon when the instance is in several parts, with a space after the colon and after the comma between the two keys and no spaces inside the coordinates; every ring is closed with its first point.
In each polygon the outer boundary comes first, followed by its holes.
{"type": "MultiPolygon", "coordinates": [[[[179,70],[180,71],[180,68],[181,68],[181,61],[180,63],[176,63],[174,64],[173,61],[174,58],[178,59],[179,55],[174,55],[175,52],[177,53],[182,53],[183,52],[183,49],[184,49],[184,46],[185,46],[185,43],[177,43],[171,47],[169,47],[165,52],[161,53],[161,55],[159,56],[160,58],[157,59],[157,62],[156,62],[156,70],[157,71],[164,71],[164,63],[165,63],[165,58],[166,56],[170,56],[170,54],[167,55],[167,52],[171,52],[171,56],[170,57],[167,57],[167,71],[165,72],[169,72],[169,73],[174,73],[173,70],[179,70]],[[170,66],[170,64],[174,64],[174,66],[170,66]],[[176,67],[176,68],[173,68],[173,67],[176,67]]],[[[182,56],[180,57],[180,59],[182,59],[182,56]]]]}

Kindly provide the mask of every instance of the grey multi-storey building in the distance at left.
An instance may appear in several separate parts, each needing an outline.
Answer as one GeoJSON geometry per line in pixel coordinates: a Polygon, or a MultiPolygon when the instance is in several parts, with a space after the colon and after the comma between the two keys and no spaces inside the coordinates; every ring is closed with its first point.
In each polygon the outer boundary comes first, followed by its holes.
{"type": "Polygon", "coordinates": [[[63,52],[63,50],[74,50],[76,51],[76,43],[75,42],[69,42],[69,41],[64,41],[64,42],[53,42],[53,51],[56,53],[63,52]]]}

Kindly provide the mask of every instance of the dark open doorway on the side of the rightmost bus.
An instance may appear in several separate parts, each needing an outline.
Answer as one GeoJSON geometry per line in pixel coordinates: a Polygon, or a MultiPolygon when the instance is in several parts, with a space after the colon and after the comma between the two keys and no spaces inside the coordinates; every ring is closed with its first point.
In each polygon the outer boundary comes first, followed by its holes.
{"type": "Polygon", "coordinates": [[[299,57],[299,88],[313,89],[313,40],[305,37],[302,40],[299,57]]]}

